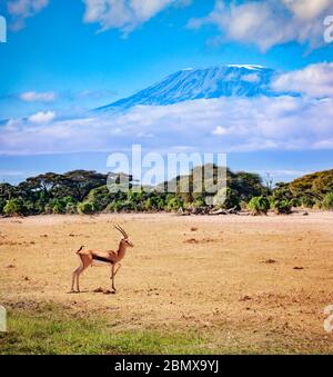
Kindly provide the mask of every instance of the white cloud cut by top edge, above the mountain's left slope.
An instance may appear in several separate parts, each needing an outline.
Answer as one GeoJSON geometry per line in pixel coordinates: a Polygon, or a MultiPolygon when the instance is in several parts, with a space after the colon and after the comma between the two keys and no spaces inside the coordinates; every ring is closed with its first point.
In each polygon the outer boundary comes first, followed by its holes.
{"type": "Polygon", "coordinates": [[[127,36],[170,6],[186,6],[190,0],[83,0],[84,22],[99,23],[101,31],[120,29],[127,36]]]}

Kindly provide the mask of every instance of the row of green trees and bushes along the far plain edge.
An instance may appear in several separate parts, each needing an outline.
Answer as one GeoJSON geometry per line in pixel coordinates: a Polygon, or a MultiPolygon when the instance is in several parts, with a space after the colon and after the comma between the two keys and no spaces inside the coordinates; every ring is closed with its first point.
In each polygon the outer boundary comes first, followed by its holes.
{"type": "Polygon", "coordinates": [[[164,182],[157,187],[138,187],[127,177],[130,190],[119,190],[119,175],[75,170],[63,175],[48,172],[31,177],[18,186],[0,183],[0,215],[29,216],[40,214],[98,212],[154,212],[179,211],[191,214],[219,209],[246,209],[253,215],[274,210],[278,215],[290,214],[293,207],[333,209],[333,170],[306,175],[291,183],[264,183],[259,175],[232,172],[228,169],[228,188],[210,194],[209,186],[216,183],[214,173],[205,181],[203,192],[195,192],[194,168],[189,176],[170,181],[175,192],[164,192],[164,182]],[[107,187],[108,181],[108,187],[107,187]],[[182,187],[189,182],[189,192],[182,187]],[[206,198],[211,197],[211,205],[206,198]],[[221,200],[225,198],[224,200],[221,200]]]}

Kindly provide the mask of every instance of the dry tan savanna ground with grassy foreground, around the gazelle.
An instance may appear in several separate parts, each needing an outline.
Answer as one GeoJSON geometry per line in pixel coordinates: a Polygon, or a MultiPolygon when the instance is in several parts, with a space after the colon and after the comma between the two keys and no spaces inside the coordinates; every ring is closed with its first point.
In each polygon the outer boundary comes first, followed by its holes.
{"type": "Polygon", "coordinates": [[[101,215],[0,219],[2,354],[332,354],[333,214],[101,215]],[[110,288],[81,245],[134,244],[110,288]]]}

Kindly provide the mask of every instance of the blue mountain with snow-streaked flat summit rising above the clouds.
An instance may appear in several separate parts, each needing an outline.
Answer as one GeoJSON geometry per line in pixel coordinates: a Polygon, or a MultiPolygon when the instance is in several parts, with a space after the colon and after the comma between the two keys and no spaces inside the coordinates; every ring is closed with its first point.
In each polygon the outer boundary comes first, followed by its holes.
{"type": "Polygon", "coordinates": [[[273,76],[272,69],[252,65],[186,68],[98,111],[127,110],[138,105],[172,105],[202,98],[272,96],[270,82],[273,76]]]}

